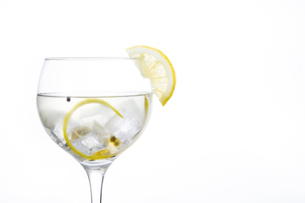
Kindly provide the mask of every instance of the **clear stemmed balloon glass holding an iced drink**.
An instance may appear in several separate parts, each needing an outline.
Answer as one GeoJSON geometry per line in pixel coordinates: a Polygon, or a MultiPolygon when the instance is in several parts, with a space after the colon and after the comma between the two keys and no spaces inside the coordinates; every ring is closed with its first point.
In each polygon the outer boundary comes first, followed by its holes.
{"type": "Polygon", "coordinates": [[[138,57],[46,58],[37,109],[51,139],[83,166],[92,203],[101,203],[108,167],[144,131],[152,108],[151,80],[138,57]]]}

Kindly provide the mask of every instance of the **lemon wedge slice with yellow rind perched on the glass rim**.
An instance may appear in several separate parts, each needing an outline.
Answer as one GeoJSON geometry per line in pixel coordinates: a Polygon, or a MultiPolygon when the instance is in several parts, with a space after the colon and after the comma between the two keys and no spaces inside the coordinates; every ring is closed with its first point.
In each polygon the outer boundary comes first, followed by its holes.
{"type": "Polygon", "coordinates": [[[176,75],[172,63],[160,50],[148,46],[133,46],[126,49],[131,57],[141,57],[136,64],[143,77],[152,81],[153,93],[164,106],[172,97],[176,75]]]}

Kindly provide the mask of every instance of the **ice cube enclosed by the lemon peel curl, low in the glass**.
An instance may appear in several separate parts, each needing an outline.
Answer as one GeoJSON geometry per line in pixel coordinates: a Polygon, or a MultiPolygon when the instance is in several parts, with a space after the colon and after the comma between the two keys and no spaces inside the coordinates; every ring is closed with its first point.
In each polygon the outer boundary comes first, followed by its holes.
{"type": "Polygon", "coordinates": [[[73,129],[69,139],[77,150],[90,156],[96,151],[106,149],[110,136],[112,135],[107,129],[93,121],[73,129]]]}

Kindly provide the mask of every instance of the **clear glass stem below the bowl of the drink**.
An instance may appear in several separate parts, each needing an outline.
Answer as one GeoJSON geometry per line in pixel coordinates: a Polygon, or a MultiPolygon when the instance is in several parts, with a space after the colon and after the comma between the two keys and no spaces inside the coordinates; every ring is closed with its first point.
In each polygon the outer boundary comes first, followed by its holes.
{"type": "Polygon", "coordinates": [[[99,165],[99,166],[92,166],[92,165],[84,165],[84,169],[87,172],[89,182],[90,182],[90,190],[91,190],[91,203],[101,203],[102,202],[102,186],[105,173],[108,167],[111,165],[99,165]]]}

